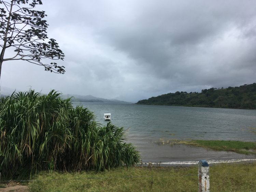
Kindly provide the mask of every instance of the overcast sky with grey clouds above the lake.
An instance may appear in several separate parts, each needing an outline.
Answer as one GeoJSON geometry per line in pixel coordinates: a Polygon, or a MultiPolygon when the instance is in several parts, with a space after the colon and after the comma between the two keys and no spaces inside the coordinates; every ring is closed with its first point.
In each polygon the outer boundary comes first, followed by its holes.
{"type": "Polygon", "coordinates": [[[6,61],[1,86],[136,102],[256,82],[256,1],[43,0],[64,75],[6,61]]]}

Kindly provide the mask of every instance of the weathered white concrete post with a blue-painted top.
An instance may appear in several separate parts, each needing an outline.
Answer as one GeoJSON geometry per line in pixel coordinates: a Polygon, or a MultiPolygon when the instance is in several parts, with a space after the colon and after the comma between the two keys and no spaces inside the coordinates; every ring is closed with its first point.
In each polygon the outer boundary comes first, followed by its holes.
{"type": "Polygon", "coordinates": [[[205,160],[198,162],[198,192],[210,192],[209,165],[205,160]]]}

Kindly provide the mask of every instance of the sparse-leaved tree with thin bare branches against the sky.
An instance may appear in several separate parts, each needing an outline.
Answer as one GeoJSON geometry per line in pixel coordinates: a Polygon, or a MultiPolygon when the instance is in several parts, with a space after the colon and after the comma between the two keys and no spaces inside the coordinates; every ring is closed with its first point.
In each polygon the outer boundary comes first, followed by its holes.
{"type": "Polygon", "coordinates": [[[0,77],[4,61],[24,60],[41,65],[45,71],[65,73],[64,66],[56,62],[45,63],[43,60],[63,60],[64,54],[54,39],[47,37],[48,24],[44,11],[34,10],[41,5],[41,0],[0,0],[0,77]],[[4,58],[5,51],[13,51],[14,55],[4,58]]]}

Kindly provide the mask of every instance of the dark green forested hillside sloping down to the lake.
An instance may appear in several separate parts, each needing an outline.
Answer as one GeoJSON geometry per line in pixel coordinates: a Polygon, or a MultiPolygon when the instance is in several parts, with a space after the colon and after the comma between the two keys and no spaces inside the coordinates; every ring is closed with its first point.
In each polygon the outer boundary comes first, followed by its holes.
{"type": "Polygon", "coordinates": [[[201,93],[177,91],[140,100],[136,104],[256,109],[256,83],[202,89],[201,93]]]}

